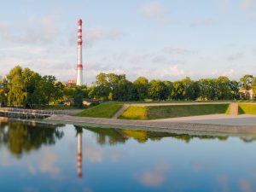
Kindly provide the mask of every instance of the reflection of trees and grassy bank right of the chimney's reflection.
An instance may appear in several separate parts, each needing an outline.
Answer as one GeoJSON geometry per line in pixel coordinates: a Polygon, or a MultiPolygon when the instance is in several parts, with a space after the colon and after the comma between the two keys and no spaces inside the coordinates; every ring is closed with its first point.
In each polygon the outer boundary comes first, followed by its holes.
{"type": "MultiPolygon", "coordinates": [[[[218,139],[219,141],[226,141],[227,136],[209,136],[209,135],[189,135],[189,134],[177,134],[171,132],[157,132],[157,131],[138,131],[138,130],[125,130],[115,128],[92,128],[84,127],[84,129],[96,133],[97,143],[101,145],[113,145],[117,143],[125,143],[129,138],[135,139],[138,143],[145,143],[149,140],[159,141],[164,137],[172,137],[178,140],[182,140],[185,143],[189,143],[192,139],[218,139]]],[[[255,135],[242,136],[241,141],[245,143],[251,143],[256,140],[255,135]]]]}

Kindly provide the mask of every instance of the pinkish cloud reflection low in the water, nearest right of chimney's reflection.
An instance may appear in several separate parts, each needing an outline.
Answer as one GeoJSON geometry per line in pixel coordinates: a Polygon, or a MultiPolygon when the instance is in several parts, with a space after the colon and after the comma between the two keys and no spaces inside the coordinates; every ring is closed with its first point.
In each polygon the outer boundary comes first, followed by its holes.
{"type": "Polygon", "coordinates": [[[135,178],[139,183],[147,187],[158,187],[166,180],[166,172],[168,171],[168,165],[158,165],[152,170],[136,173],[135,178]]]}

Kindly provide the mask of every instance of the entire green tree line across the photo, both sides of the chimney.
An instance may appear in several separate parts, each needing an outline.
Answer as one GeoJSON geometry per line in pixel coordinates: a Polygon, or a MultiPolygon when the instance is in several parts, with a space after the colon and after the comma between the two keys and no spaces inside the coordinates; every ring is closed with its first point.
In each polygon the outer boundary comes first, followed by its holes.
{"type": "Polygon", "coordinates": [[[73,98],[74,105],[81,107],[84,98],[136,102],[195,100],[239,100],[249,99],[249,90],[256,93],[256,78],[245,75],[239,81],[225,76],[217,79],[171,81],[148,80],[138,77],[131,82],[125,74],[99,73],[91,86],[68,87],[55,76],[41,76],[29,68],[14,67],[0,79],[0,103],[11,106],[35,108],[73,98]],[[243,93],[240,89],[245,90],[243,93]]]}

